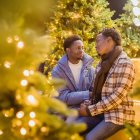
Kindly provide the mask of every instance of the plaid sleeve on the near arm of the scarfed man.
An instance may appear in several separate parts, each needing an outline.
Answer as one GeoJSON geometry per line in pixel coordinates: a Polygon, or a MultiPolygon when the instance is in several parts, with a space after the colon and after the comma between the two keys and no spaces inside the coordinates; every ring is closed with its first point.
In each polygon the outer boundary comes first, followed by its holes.
{"type": "Polygon", "coordinates": [[[97,104],[88,106],[92,116],[109,111],[118,106],[127,96],[128,90],[132,87],[134,81],[134,67],[131,63],[119,65],[116,88],[108,97],[102,99],[97,104]]]}

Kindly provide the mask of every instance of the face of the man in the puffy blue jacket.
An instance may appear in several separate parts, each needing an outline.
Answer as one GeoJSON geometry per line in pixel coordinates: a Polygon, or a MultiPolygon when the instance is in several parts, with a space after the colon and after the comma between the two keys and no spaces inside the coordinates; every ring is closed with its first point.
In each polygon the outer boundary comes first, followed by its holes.
{"type": "Polygon", "coordinates": [[[72,43],[72,45],[69,48],[67,48],[67,54],[72,59],[80,60],[84,55],[83,49],[83,42],[81,40],[76,40],[72,43]]]}

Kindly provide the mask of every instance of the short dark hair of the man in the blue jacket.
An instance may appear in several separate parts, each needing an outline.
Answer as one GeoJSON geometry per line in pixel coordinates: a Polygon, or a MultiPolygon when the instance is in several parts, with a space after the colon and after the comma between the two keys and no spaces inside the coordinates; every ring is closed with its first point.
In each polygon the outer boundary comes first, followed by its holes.
{"type": "Polygon", "coordinates": [[[69,36],[68,38],[66,38],[64,40],[64,44],[63,44],[63,47],[64,47],[64,51],[66,51],[66,48],[70,48],[70,46],[72,45],[72,43],[76,40],[82,40],[80,36],[78,35],[71,35],[69,36]]]}

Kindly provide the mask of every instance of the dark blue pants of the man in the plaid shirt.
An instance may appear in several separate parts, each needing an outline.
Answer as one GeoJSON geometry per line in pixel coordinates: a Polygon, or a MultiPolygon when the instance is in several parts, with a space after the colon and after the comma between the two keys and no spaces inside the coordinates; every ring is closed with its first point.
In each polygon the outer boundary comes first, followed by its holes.
{"type": "Polygon", "coordinates": [[[87,125],[87,130],[81,134],[85,135],[85,140],[105,140],[124,128],[123,125],[105,122],[103,115],[79,117],[76,122],[84,122],[87,125]]]}

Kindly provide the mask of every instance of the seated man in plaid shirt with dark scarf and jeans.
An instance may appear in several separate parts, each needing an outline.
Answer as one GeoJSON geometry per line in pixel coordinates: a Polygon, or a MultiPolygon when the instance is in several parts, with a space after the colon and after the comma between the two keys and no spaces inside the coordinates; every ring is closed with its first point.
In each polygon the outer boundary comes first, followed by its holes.
{"type": "Polygon", "coordinates": [[[126,122],[133,124],[135,115],[133,101],[128,96],[134,81],[134,67],[122,50],[118,32],[113,28],[104,29],[97,36],[96,51],[101,61],[95,71],[92,103],[82,103],[79,109],[84,118],[81,117],[80,122],[85,122],[90,130],[86,140],[110,137],[124,128],[126,122]]]}

